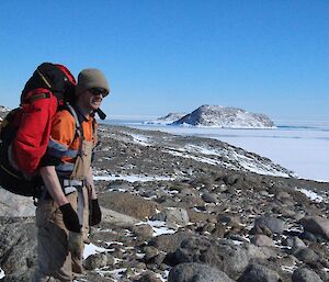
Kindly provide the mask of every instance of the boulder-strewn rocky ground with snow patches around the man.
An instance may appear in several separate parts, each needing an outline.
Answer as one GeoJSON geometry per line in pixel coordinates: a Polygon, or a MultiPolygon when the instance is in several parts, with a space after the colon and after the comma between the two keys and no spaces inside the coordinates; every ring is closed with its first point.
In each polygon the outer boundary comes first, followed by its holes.
{"type": "MultiPolygon", "coordinates": [[[[103,221],[75,281],[329,281],[329,183],[214,139],[100,129],[103,221]]],[[[33,201],[0,202],[1,281],[29,281],[33,201]]]]}

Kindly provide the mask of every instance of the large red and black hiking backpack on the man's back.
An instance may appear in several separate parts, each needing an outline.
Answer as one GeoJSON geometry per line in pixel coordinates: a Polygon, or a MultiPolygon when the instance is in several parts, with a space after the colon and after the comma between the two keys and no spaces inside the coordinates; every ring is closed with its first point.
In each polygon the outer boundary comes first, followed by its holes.
{"type": "Polygon", "coordinates": [[[52,119],[73,99],[77,82],[63,65],[44,63],[26,82],[20,108],[0,127],[0,185],[13,193],[37,196],[39,161],[46,153],[52,119]]]}

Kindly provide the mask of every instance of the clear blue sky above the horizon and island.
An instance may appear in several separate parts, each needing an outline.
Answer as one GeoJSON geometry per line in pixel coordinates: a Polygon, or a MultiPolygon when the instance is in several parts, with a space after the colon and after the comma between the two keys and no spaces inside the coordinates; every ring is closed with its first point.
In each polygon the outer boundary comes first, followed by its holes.
{"type": "Polygon", "coordinates": [[[329,121],[328,0],[3,0],[0,104],[43,61],[100,68],[107,115],[202,104],[329,121]]]}

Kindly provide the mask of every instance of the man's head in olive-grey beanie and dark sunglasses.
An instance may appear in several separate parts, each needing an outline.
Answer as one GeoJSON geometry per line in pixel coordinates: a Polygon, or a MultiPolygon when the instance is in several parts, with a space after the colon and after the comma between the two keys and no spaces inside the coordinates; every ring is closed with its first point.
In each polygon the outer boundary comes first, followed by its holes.
{"type": "Polygon", "coordinates": [[[76,88],[77,103],[82,110],[91,112],[100,108],[110,92],[109,82],[103,72],[95,68],[81,70],[76,88]]]}

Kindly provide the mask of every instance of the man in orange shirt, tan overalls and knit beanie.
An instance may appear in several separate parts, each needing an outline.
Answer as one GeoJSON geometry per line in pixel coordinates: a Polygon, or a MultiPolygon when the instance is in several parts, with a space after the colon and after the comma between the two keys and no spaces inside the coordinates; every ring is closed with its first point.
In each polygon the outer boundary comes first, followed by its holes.
{"type": "Polygon", "coordinates": [[[110,92],[98,69],[79,74],[76,101],[56,113],[41,176],[44,194],[36,208],[37,268],[33,282],[71,282],[82,273],[83,241],[89,226],[101,222],[92,180],[97,145],[94,112],[110,92]]]}

